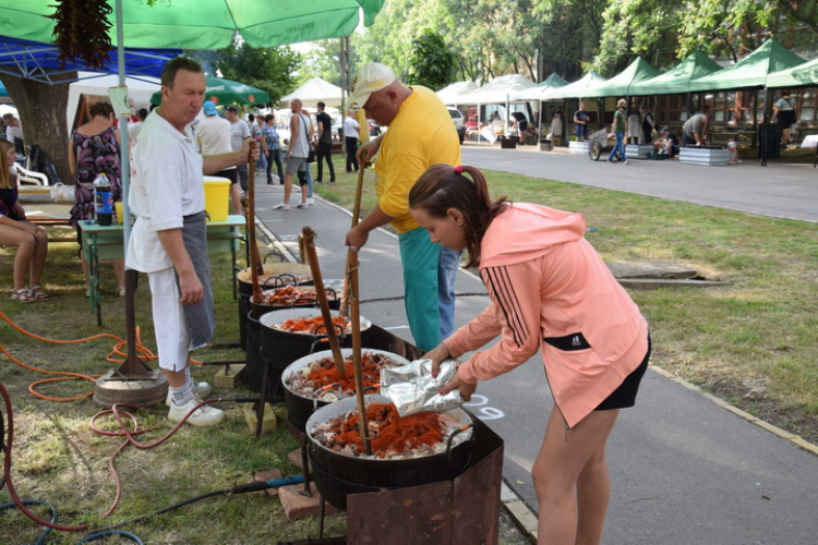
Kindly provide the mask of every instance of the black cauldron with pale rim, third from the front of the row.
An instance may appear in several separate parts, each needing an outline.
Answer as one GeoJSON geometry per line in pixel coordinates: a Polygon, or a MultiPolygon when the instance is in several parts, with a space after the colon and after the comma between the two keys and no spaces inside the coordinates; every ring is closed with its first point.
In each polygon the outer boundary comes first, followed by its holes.
{"type": "MultiPolygon", "coordinates": [[[[338,316],[338,311],[329,311],[330,315],[335,318],[338,316]]],[[[290,363],[294,362],[299,358],[303,358],[316,349],[324,349],[328,344],[321,342],[326,339],[326,330],[321,330],[314,334],[294,334],[291,331],[282,331],[276,329],[276,324],[280,324],[288,319],[305,319],[314,316],[321,316],[318,308],[287,308],[284,311],[273,311],[263,315],[260,318],[262,325],[262,353],[275,367],[284,370],[290,363]]],[[[368,329],[372,323],[364,317],[361,317],[361,344],[366,346],[368,329]]],[[[338,334],[338,329],[335,331],[338,334]]],[[[342,348],[351,348],[352,335],[345,334],[338,335],[338,343],[342,348]]]]}

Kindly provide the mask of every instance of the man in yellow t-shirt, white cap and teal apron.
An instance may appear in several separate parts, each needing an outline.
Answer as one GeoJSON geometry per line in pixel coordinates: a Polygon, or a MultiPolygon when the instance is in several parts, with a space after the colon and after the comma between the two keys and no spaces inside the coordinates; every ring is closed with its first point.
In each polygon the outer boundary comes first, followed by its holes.
{"type": "Polygon", "coordinates": [[[361,247],[370,231],[392,223],[404,265],[405,307],[414,344],[432,350],[454,332],[455,279],[459,252],[434,244],[409,214],[409,191],[434,165],[460,165],[460,143],[452,118],[426,87],[407,87],[377,62],[361,66],[350,102],[387,125],[385,134],[358,149],[362,166],[375,159],[377,205],[347,233],[347,245],[361,247]]]}

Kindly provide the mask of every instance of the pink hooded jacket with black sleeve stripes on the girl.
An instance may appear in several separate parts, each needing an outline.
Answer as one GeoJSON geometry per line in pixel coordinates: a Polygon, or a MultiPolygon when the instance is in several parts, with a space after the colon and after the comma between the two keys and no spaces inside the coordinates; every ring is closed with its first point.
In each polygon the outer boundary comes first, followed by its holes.
{"type": "Polygon", "coordinates": [[[494,218],[480,274],[492,303],[444,341],[452,356],[500,342],[460,365],[460,378],[508,373],[542,351],[558,410],[573,427],[648,352],[648,324],[582,235],[579,214],[518,203],[494,218]]]}

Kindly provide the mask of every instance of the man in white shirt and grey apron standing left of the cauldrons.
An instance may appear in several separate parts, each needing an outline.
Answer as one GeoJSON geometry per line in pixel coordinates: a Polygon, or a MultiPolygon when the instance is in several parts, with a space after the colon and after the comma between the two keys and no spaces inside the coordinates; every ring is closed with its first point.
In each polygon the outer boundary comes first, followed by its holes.
{"type": "MultiPolygon", "coordinates": [[[[238,152],[203,157],[190,123],[205,94],[202,66],[183,57],[161,75],[161,107],[145,120],[131,149],[130,203],[136,215],[128,267],[147,274],[159,366],[168,377],[168,420],[194,426],[218,424],[224,411],[201,404],[207,383],[190,376],[190,352],[215,328],[202,174],[246,162],[250,140],[238,152]],[[195,409],[195,410],[194,410],[195,409]]],[[[257,158],[254,149],[253,160],[257,158]]]]}

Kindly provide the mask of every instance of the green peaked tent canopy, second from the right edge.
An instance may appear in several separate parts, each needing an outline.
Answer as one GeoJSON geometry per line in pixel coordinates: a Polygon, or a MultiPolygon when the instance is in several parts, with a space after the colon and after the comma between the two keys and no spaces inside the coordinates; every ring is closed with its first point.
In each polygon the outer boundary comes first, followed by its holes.
{"type": "Polygon", "coordinates": [[[732,66],[690,82],[690,92],[761,88],[767,76],[806,62],[778,43],[765,41],[758,49],[732,66]]]}

